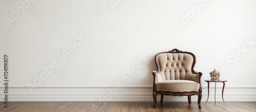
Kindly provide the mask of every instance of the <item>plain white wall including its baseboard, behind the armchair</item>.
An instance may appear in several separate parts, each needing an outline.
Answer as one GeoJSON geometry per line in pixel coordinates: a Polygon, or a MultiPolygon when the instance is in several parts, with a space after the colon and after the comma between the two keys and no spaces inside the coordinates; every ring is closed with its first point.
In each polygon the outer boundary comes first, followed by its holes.
{"type": "MultiPolygon", "coordinates": [[[[255,5],[253,0],[1,0],[0,73],[8,54],[10,101],[153,101],[154,56],[177,48],[197,56],[202,101],[204,80],[214,69],[228,80],[226,101],[256,101],[255,5]]],[[[217,101],[221,87],[218,83],[217,101]]],[[[3,91],[1,85],[1,97],[3,91]]]]}

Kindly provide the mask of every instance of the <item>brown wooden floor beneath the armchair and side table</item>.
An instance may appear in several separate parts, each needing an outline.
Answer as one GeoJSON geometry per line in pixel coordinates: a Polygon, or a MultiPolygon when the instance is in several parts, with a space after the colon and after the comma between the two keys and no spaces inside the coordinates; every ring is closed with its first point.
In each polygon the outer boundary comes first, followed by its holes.
{"type": "Polygon", "coordinates": [[[256,111],[256,102],[9,102],[1,103],[0,111],[256,111]]]}

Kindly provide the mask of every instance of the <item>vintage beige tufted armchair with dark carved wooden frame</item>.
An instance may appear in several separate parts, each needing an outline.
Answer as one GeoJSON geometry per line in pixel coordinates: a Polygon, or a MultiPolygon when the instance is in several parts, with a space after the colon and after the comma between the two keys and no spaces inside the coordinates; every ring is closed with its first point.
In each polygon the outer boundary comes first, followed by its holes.
{"type": "Polygon", "coordinates": [[[201,109],[202,84],[201,72],[195,72],[196,56],[190,52],[173,49],[160,52],[155,56],[157,71],[153,71],[153,99],[157,103],[157,95],[161,94],[161,103],[164,95],[188,96],[191,104],[191,95],[198,96],[198,107],[201,109]]]}

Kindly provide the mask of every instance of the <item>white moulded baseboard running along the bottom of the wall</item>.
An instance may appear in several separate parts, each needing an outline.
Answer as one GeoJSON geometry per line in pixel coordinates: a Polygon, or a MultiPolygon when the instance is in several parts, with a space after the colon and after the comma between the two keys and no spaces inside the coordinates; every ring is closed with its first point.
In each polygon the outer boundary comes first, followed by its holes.
{"type": "MultiPolygon", "coordinates": [[[[0,87],[0,92],[4,87],[0,87]]],[[[27,86],[10,86],[8,101],[115,101],[153,102],[152,86],[38,86],[29,91],[27,86]]],[[[202,102],[207,100],[207,87],[203,87],[202,102]]],[[[214,102],[214,87],[210,87],[208,102],[214,102]]],[[[216,101],[222,102],[222,87],[216,88],[216,101]]],[[[1,92],[2,93],[2,92],[1,92]]],[[[4,94],[0,94],[4,99],[4,94]]],[[[191,100],[197,102],[197,96],[191,100]]],[[[160,101],[160,95],[158,95],[160,101]]],[[[164,96],[166,102],[187,102],[187,97],[164,96]]],[[[225,102],[256,102],[256,87],[227,86],[225,102]]]]}

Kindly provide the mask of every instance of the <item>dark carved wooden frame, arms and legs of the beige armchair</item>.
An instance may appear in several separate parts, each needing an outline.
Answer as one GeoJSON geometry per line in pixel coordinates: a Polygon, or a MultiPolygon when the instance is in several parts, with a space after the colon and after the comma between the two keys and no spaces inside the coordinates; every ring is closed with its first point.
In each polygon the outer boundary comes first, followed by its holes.
{"type": "Polygon", "coordinates": [[[170,95],[170,96],[188,96],[188,103],[191,104],[191,95],[197,95],[198,96],[198,108],[201,109],[201,99],[202,99],[202,83],[201,83],[201,76],[203,75],[201,72],[195,72],[194,71],[194,66],[196,64],[196,56],[193,54],[193,53],[190,53],[190,52],[183,52],[183,51],[180,51],[178,49],[173,49],[173,50],[170,50],[168,52],[160,52],[158,54],[156,54],[155,56],[155,62],[156,62],[156,65],[157,65],[157,71],[153,71],[153,77],[154,77],[154,81],[153,81],[153,99],[154,99],[154,104],[153,104],[153,107],[156,107],[156,103],[157,103],[157,95],[158,94],[161,94],[161,100],[160,102],[163,103],[163,95],[170,95]],[[160,72],[160,69],[159,69],[159,62],[157,60],[157,57],[158,55],[162,54],[162,53],[186,53],[186,54],[190,54],[193,56],[194,60],[193,60],[193,64],[191,66],[191,72],[193,74],[199,74],[199,84],[200,84],[200,87],[198,89],[198,91],[191,91],[191,92],[173,92],[173,91],[157,91],[156,89],[156,83],[155,83],[155,77],[156,77],[156,74],[160,72]]]}

